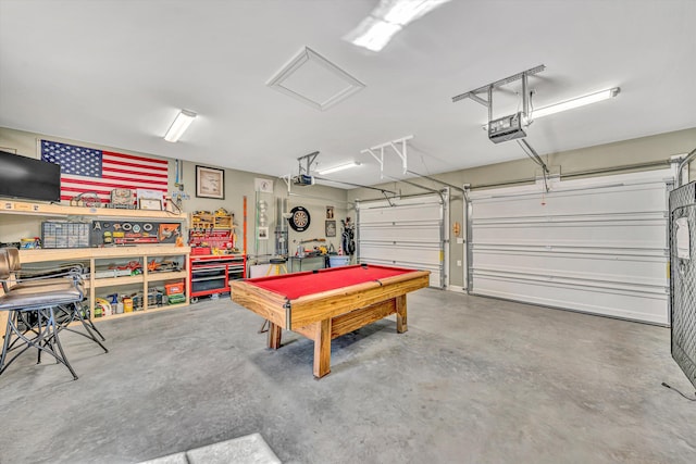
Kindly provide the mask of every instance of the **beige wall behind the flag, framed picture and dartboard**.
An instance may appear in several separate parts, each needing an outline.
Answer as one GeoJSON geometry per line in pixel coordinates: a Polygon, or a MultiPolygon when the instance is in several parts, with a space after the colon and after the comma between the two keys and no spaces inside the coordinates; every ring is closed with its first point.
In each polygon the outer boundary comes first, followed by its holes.
{"type": "MultiPolygon", "coordinates": [[[[129,150],[124,150],[121,148],[114,147],[103,147],[95,143],[82,142],[78,140],[69,140],[60,137],[52,136],[42,136],[40,134],[27,133],[22,130],[14,130],[9,128],[0,127],[0,147],[3,149],[9,149],[11,151],[16,151],[17,154],[22,154],[29,158],[39,158],[38,154],[38,145],[37,141],[41,138],[64,142],[64,143],[73,143],[84,147],[97,148],[97,149],[109,149],[122,153],[130,153],[138,155],[146,155],[151,158],[160,158],[149,153],[139,153],[129,150]]],[[[275,226],[275,216],[273,214],[269,215],[271,220],[270,224],[270,233],[271,237],[269,241],[264,244],[266,247],[256,246],[256,234],[254,234],[254,221],[256,221],[256,196],[254,191],[254,178],[266,178],[271,179],[274,183],[274,192],[271,198],[287,198],[288,199],[288,209],[293,206],[302,205],[308,209],[311,215],[311,224],[310,228],[303,233],[295,233],[294,230],[289,230],[289,244],[290,250],[293,250],[293,241],[299,242],[300,240],[307,240],[311,238],[324,238],[324,221],[326,215],[326,206],[335,208],[335,220],[337,222],[337,237],[334,239],[330,239],[330,241],[334,242],[336,249],[338,249],[339,238],[340,238],[340,220],[346,217],[346,190],[337,189],[333,187],[326,186],[313,186],[313,187],[293,187],[293,196],[288,196],[287,185],[284,180],[278,178],[272,178],[266,175],[249,173],[245,171],[236,171],[225,168],[225,199],[224,200],[215,200],[209,198],[197,198],[196,197],[196,164],[192,162],[184,162],[183,163],[183,173],[179,173],[181,179],[179,181],[184,184],[184,191],[187,192],[191,198],[190,200],[184,201],[184,211],[186,213],[191,213],[195,211],[215,211],[219,208],[224,208],[228,212],[235,214],[235,223],[238,226],[237,235],[238,235],[238,243],[241,247],[243,242],[243,225],[244,225],[244,197],[247,197],[247,251],[251,254],[257,249],[260,252],[273,253],[275,251],[273,231],[275,226]],[[299,196],[296,196],[298,193],[299,196]],[[316,197],[307,198],[308,196],[316,197]]],[[[209,167],[217,167],[213,165],[207,164],[209,167]]],[[[170,160],[170,190],[174,190],[174,181],[175,181],[175,163],[173,160],[170,160]]],[[[270,202],[274,204],[274,201],[270,202]]],[[[7,215],[0,214],[0,241],[18,241],[23,237],[35,237],[40,235],[40,223],[41,218],[29,217],[29,216],[15,216],[15,215],[7,215]]],[[[311,248],[313,244],[318,243],[307,243],[308,248],[311,248]]]]}

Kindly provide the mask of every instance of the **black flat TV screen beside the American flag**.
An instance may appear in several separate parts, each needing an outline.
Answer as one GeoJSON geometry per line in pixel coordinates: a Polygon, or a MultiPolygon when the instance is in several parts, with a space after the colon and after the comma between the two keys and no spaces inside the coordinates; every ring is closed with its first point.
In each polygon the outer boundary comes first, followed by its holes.
{"type": "Polygon", "coordinates": [[[61,166],[0,151],[0,197],[61,201],[61,166]]]}

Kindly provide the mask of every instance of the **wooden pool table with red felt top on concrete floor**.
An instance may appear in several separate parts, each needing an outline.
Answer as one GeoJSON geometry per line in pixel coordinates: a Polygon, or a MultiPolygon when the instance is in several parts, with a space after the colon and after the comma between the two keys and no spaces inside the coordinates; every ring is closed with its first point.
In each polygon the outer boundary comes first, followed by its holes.
{"type": "Polygon", "coordinates": [[[331,340],[396,314],[407,327],[406,293],[427,287],[430,271],[359,264],[231,283],[232,300],[270,322],[269,348],[283,329],[314,341],[314,376],[331,372],[331,340]]]}

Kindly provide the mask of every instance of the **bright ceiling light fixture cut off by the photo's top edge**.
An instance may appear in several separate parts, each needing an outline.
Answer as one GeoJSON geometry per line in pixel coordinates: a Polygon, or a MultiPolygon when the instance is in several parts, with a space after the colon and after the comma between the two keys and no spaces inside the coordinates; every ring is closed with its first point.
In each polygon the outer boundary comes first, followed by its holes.
{"type": "Polygon", "coordinates": [[[380,51],[409,23],[449,0],[381,0],[346,40],[371,51],[380,51]]]}

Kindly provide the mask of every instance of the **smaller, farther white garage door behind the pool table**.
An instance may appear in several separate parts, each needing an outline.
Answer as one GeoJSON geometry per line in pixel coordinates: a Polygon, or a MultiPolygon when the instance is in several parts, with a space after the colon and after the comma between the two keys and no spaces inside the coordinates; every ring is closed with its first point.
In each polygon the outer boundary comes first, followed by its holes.
{"type": "Polygon", "coordinates": [[[443,288],[446,204],[446,192],[358,202],[358,261],[430,271],[431,287],[443,288]]]}

